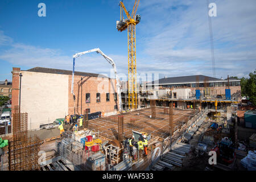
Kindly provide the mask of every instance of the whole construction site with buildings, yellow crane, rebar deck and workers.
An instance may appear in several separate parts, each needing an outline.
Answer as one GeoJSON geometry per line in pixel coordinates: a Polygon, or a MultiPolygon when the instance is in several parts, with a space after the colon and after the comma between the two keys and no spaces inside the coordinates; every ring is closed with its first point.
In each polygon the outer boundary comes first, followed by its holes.
{"type": "Polygon", "coordinates": [[[74,53],[72,71],[13,68],[1,171],[256,171],[256,111],[242,103],[240,79],[193,75],[138,84],[139,2],[131,11],[119,2],[126,82],[100,48],[74,53]],[[88,53],[99,53],[114,78],[75,71],[88,53]]]}

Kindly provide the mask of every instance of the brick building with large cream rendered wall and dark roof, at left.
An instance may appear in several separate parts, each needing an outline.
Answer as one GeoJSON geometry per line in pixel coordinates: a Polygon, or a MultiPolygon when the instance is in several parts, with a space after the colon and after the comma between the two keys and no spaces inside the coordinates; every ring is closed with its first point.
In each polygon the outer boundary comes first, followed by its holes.
{"type": "Polygon", "coordinates": [[[19,105],[19,74],[21,81],[21,111],[28,113],[28,129],[38,129],[69,114],[104,111],[116,114],[118,97],[115,79],[95,73],[75,72],[71,93],[72,71],[51,68],[32,68],[20,71],[13,68],[13,104],[19,105]],[[82,78],[82,80],[81,80],[82,78]],[[81,91],[82,90],[82,91],[81,91]]]}

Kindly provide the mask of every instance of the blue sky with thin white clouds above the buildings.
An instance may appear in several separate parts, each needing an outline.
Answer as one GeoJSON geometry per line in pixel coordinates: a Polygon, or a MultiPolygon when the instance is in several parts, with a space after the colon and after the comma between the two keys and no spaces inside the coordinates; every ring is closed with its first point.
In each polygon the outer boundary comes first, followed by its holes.
{"type": "MultiPolygon", "coordinates": [[[[256,68],[255,0],[209,0],[217,78],[248,77],[256,68]]],[[[123,0],[133,9],[134,0],[123,0]]],[[[100,48],[118,73],[128,72],[127,31],[118,32],[116,0],[1,0],[0,80],[13,67],[72,70],[72,55],[100,48]],[[46,17],[38,4],[46,4],[46,17]]],[[[213,76],[207,0],[141,0],[136,26],[137,73],[164,76],[213,76]]],[[[76,60],[76,71],[110,76],[111,66],[97,53],[76,60]]]]}

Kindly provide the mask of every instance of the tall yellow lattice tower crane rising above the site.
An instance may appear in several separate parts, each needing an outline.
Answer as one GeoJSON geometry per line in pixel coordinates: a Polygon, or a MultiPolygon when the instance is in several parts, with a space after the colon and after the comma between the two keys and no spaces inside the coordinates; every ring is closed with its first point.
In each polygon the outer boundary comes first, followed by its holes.
{"type": "Polygon", "coordinates": [[[141,16],[136,15],[139,0],[135,0],[133,12],[131,15],[126,10],[125,5],[121,1],[120,20],[117,21],[117,30],[122,32],[127,29],[128,32],[128,103],[129,109],[137,109],[137,67],[136,67],[136,34],[135,26],[141,21],[141,16]],[[127,19],[123,19],[123,11],[127,19]]]}

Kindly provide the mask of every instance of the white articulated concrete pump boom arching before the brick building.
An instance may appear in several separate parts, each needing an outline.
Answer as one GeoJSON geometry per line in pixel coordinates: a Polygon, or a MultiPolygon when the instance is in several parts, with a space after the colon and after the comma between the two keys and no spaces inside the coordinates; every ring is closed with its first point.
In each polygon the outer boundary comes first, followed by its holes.
{"type": "Polygon", "coordinates": [[[115,80],[117,80],[117,94],[118,94],[118,100],[119,100],[119,110],[122,111],[123,110],[123,105],[122,105],[122,98],[121,98],[121,87],[120,87],[119,78],[118,78],[118,75],[117,75],[117,68],[115,67],[114,60],[111,59],[109,56],[105,55],[99,48],[91,49],[89,51],[75,53],[73,55],[73,72],[72,72],[71,93],[73,94],[73,96],[75,96],[75,94],[73,93],[74,73],[75,73],[75,59],[76,59],[76,57],[80,57],[80,56],[85,55],[86,53],[89,53],[89,52],[100,53],[108,61],[108,63],[112,65],[112,67],[114,69],[114,73],[115,73],[115,80]]]}

